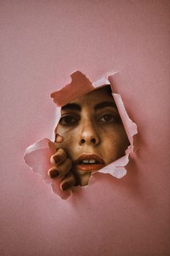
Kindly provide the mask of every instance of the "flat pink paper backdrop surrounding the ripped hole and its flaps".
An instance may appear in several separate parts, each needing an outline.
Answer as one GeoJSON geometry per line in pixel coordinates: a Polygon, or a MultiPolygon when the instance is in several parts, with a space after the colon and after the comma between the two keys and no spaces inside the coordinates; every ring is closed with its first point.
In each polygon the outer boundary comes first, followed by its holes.
{"type": "Polygon", "coordinates": [[[169,255],[169,1],[1,1],[1,250],[6,255],[169,255]],[[123,179],[97,174],[63,201],[24,164],[51,137],[50,93],[79,69],[119,71],[138,124],[123,179]]]}

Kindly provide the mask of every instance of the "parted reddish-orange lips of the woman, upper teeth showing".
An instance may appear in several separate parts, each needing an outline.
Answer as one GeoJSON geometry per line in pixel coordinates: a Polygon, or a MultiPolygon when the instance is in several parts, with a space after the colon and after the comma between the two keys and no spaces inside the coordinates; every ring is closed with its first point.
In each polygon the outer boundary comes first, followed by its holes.
{"type": "Polygon", "coordinates": [[[98,171],[104,166],[104,160],[94,154],[83,154],[74,162],[74,168],[79,171],[98,171]]]}

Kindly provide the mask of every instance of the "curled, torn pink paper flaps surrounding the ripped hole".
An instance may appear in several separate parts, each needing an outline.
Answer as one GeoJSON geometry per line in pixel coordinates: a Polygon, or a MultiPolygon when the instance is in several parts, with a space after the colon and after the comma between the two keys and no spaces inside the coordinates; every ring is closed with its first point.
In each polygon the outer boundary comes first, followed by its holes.
{"type": "MultiPolygon", "coordinates": [[[[73,101],[74,99],[79,98],[81,95],[89,93],[92,90],[99,89],[104,85],[111,85],[110,87],[112,89],[114,85],[112,85],[109,81],[112,79],[112,77],[114,77],[115,74],[117,74],[117,72],[107,73],[100,80],[91,83],[85,74],[81,73],[80,71],[73,72],[71,74],[71,82],[68,85],[64,86],[61,90],[50,94],[54,103],[57,104],[54,127],[57,126],[58,121],[61,118],[61,106],[66,105],[70,101],[73,101]]],[[[129,162],[130,153],[133,153],[133,136],[138,133],[138,130],[137,125],[128,116],[120,94],[114,93],[112,89],[112,96],[120,113],[122,123],[130,141],[130,145],[122,158],[109,163],[109,165],[104,166],[104,168],[100,169],[98,172],[102,174],[110,174],[115,178],[120,179],[127,173],[125,166],[127,166],[129,162]]],[[[51,140],[54,141],[54,139],[55,135],[53,134],[51,140]]],[[[51,140],[45,138],[35,142],[33,145],[30,145],[30,147],[25,150],[24,161],[33,172],[42,176],[42,179],[44,179],[46,184],[51,186],[52,191],[55,194],[59,195],[62,199],[66,199],[71,195],[71,191],[61,191],[60,183],[62,178],[50,179],[48,176],[48,170],[52,167],[52,164],[50,163],[50,156],[53,155],[53,152],[49,147],[49,142],[51,140]]],[[[95,175],[95,173],[91,175],[91,179],[93,175],[95,175]]],[[[73,187],[73,190],[75,190],[75,187],[73,187]]]]}

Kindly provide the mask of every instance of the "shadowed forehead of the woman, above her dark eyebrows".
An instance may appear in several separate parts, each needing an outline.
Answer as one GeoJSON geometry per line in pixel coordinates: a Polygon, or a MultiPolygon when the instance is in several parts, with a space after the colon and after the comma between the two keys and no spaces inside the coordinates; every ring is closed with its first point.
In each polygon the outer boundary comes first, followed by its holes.
{"type": "Polygon", "coordinates": [[[77,103],[81,106],[88,105],[88,106],[94,106],[97,103],[100,103],[102,101],[111,101],[113,102],[112,94],[108,90],[108,87],[99,88],[97,90],[93,90],[90,93],[87,93],[79,98],[76,98],[76,100],[71,101],[70,103],[77,103]]]}

